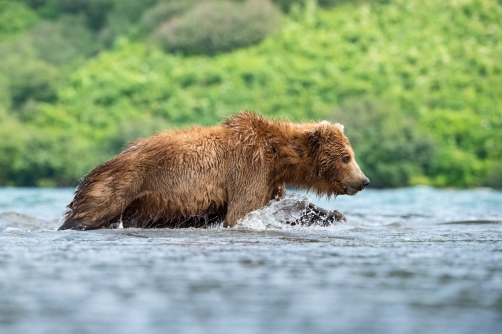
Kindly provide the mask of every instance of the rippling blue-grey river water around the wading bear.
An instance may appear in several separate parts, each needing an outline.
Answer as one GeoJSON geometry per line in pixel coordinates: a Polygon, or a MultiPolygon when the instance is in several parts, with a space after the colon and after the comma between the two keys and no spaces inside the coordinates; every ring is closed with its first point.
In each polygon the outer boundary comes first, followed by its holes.
{"type": "MultiPolygon", "coordinates": [[[[0,189],[1,333],[500,333],[502,192],[336,200],[348,223],[60,231],[69,189],[0,189]]],[[[292,209],[293,208],[293,209],[292,209]]],[[[289,211],[288,211],[289,210],[289,211]]]]}

